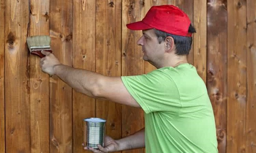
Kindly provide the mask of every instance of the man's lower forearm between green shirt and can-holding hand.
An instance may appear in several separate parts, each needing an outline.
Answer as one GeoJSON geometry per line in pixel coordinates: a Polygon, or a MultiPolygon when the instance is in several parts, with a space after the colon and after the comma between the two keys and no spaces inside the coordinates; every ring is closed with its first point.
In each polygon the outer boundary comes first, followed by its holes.
{"type": "Polygon", "coordinates": [[[145,129],[125,138],[117,140],[120,150],[136,149],[145,147],[145,129]]]}

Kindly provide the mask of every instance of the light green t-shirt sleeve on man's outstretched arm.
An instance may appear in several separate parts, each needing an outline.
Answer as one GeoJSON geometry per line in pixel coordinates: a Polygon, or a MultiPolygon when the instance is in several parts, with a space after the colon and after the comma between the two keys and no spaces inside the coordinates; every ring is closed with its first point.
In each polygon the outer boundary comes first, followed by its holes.
{"type": "Polygon", "coordinates": [[[180,95],[173,78],[164,70],[154,70],[145,75],[122,76],[128,92],[145,113],[154,111],[176,112],[181,107],[180,95]]]}

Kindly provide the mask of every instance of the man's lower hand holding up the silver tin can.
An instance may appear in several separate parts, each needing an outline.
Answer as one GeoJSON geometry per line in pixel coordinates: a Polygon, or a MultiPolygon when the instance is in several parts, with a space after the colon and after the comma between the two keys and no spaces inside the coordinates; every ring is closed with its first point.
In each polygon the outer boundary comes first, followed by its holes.
{"type": "Polygon", "coordinates": [[[87,148],[85,144],[82,144],[82,146],[83,146],[83,149],[90,150],[94,153],[108,153],[108,152],[114,152],[114,151],[120,150],[119,143],[113,138],[106,136],[104,142],[105,142],[105,147],[102,147],[101,145],[98,144],[98,149],[87,148]]]}

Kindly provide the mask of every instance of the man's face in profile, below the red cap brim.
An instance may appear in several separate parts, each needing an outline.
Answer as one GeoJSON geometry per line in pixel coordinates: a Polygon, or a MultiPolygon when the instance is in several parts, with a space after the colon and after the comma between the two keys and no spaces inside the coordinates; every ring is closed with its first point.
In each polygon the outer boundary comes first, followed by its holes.
{"type": "Polygon", "coordinates": [[[142,33],[143,35],[139,38],[137,44],[142,47],[143,60],[156,65],[163,60],[165,42],[159,44],[154,29],[143,30],[142,33]]]}

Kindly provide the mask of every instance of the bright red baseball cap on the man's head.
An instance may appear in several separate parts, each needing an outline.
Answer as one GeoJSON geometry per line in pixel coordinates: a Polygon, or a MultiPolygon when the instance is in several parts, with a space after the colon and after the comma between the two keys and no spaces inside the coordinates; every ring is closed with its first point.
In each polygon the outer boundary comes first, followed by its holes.
{"type": "Polygon", "coordinates": [[[143,20],[126,24],[131,30],[158,29],[178,36],[191,36],[188,33],[191,21],[181,9],[174,5],[152,6],[143,20]]]}

